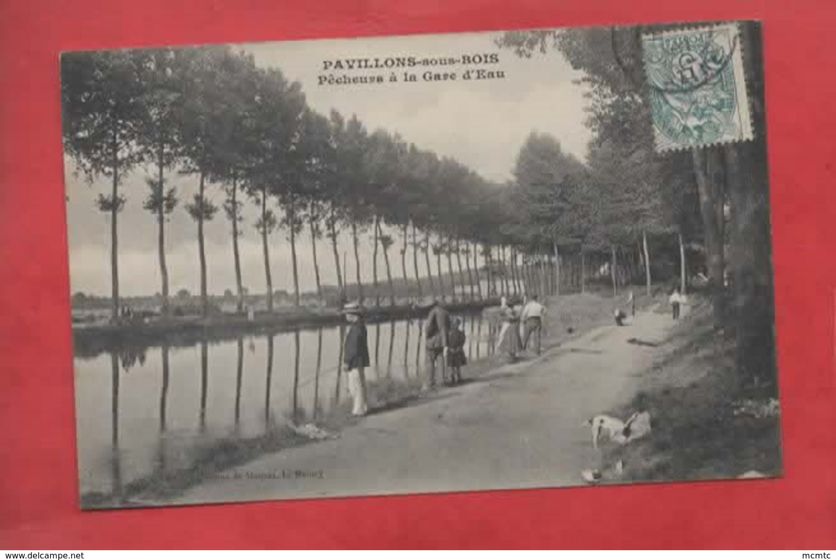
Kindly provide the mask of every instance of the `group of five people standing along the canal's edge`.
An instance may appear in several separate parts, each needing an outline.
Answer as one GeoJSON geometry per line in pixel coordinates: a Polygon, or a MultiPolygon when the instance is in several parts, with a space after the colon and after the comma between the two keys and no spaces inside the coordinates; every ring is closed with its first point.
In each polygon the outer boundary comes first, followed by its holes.
{"type": "MultiPolygon", "coordinates": [[[[507,354],[510,362],[517,360],[517,354],[528,347],[532,336],[536,339],[536,352],[540,354],[543,333],[543,319],[546,308],[538,302],[537,296],[523,301],[521,308],[508,305],[502,298],[500,317],[502,328],[499,333],[499,349],[507,354]],[[523,333],[520,333],[520,324],[523,333]]],[[[364,322],[364,309],[359,303],[349,303],[343,308],[349,323],[344,340],[344,365],[348,372],[349,394],[354,404],[351,413],[364,416],[369,412],[365,369],[370,366],[368,334],[364,322]]],[[[425,320],[426,333],[426,374],[423,390],[436,387],[436,366],[441,366],[441,380],[444,384],[461,383],[461,368],[467,364],[464,346],[466,336],[460,318],[451,317],[440,301],[433,300],[430,313],[425,320]],[[450,369],[448,379],[447,368],[450,369]]]]}

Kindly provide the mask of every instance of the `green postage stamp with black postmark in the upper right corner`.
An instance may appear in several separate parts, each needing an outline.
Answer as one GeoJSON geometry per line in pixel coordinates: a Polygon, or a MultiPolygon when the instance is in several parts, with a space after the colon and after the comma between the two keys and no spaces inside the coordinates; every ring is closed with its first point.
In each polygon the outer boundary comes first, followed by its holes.
{"type": "Polygon", "coordinates": [[[735,23],[642,36],[657,151],[752,140],[735,23]]]}

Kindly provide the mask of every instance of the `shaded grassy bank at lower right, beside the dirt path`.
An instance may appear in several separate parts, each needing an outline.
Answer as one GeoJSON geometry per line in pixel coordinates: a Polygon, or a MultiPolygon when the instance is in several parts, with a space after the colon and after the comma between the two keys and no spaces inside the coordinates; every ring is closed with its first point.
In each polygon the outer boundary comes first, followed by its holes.
{"type": "Polygon", "coordinates": [[[660,345],[640,393],[613,411],[627,418],[649,410],[652,432],[609,447],[604,464],[624,461],[619,482],[729,479],[748,471],[782,476],[780,415],[770,407],[775,386],[739,383],[734,341],[713,330],[710,304],[692,299],[692,313],[660,345]]]}

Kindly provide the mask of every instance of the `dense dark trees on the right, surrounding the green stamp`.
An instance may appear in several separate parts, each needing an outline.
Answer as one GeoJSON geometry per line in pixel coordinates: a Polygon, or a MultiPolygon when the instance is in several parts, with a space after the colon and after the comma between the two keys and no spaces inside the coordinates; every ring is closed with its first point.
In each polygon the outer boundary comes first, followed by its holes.
{"type": "MultiPolygon", "coordinates": [[[[653,149],[652,115],[642,64],[642,26],[505,33],[497,43],[522,57],[556,49],[589,88],[587,124],[594,133],[588,173],[580,181],[586,204],[553,207],[553,231],[566,222],[593,234],[594,242],[624,245],[641,237],[647,283],[647,238],[676,237],[681,258],[681,287],[686,287],[686,245],[698,247],[710,278],[716,328],[737,338],[737,370],[744,379],[774,377],[774,323],[771,238],[769,232],[766,140],[762,130],[764,95],[762,37],[756,23],[739,23],[755,128],[755,140],[659,154],[653,149]],[[589,227],[589,229],[585,229],[589,227]],[[731,285],[729,278],[731,277],[731,285]],[[731,288],[731,289],[730,289],[731,288]],[[731,296],[731,297],[730,297],[731,296]],[[727,302],[732,301],[732,316],[727,302]]],[[[655,26],[654,31],[660,31],[655,26]]],[[[529,141],[529,144],[531,139],[529,141]]],[[[541,146],[540,150],[545,150],[541,146]]],[[[552,149],[554,151],[554,148],[552,149]]],[[[517,165],[517,180],[532,176],[521,164],[536,161],[538,150],[517,165]]],[[[555,165],[559,158],[551,158],[555,165]]],[[[564,165],[565,166],[565,165],[564,165]]],[[[541,165],[543,167],[543,165],[541,165]]],[[[541,170],[541,176],[548,176],[541,170]]],[[[577,181],[577,177],[573,177],[577,181]]],[[[529,185],[531,179],[526,179],[529,185]]],[[[556,188],[556,187],[555,187],[556,188]]],[[[537,194],[535,189],[529,191],[537,194]]],[[[568,194],[546,198],[566,203],[568,194]]],[[[542,208],[542,201],[534,205],[542,208]]],[[[548,224],[544,224],[548,227],[548,224]]],[[[563,230],[573,237],[576,228],[563,230]]],[[[559,234],[558,234],[559,235],[559,234]]],[[[587,240],[584,235],[583,241],[587,240]]],[[[614,258],[613,258],[614,260],[614,258]]],[[[615,283],[615,275],[614,283],[615,283]]]]}

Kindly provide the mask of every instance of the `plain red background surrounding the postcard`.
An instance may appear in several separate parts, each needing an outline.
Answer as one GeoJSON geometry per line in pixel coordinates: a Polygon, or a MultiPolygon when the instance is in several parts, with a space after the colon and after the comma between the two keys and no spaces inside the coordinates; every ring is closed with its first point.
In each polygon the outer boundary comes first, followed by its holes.
{"type": "Polygon", "coordinates": [[[0,548],[836,547],[834,16],[822,0],[0,0],[0,548]],[[79,511],[60,51],[743,18],[765,26],[786,478],[79,511]]]}

